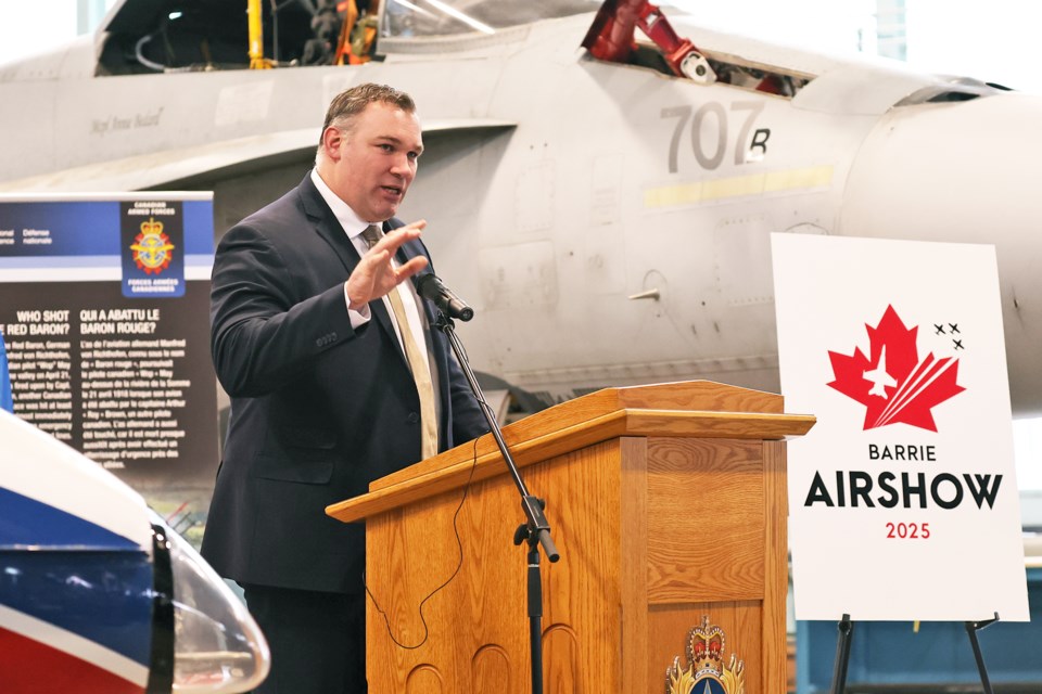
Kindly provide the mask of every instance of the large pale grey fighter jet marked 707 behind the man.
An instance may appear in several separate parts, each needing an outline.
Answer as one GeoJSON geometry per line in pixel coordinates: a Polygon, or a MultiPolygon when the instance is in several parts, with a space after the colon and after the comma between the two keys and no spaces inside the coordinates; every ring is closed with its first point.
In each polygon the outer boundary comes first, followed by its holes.
{"type": "MultiPolygon", "coordinates": [[[[989,243],[1014,411],[1042,412],[1042,97],[669,9],[697,47],[687,74],[639,33],[599,60],[584,0],[387,0],[374,60],[352,66],[291,64],[314,8],[265,7],[278,66],[246,69],[245,4],[124,0],[97,35],[0,66],[0,191],[212,189],[224,231],[300,181],[333,94],[390,83],[427,144],[399,216],[429,221],[439,275],[475,309],[460,334],[480,371],[546,400],[777,390],[772,232],[989,243]]],[[[637,5],[610,0],[599,28],[637,5]]]]}

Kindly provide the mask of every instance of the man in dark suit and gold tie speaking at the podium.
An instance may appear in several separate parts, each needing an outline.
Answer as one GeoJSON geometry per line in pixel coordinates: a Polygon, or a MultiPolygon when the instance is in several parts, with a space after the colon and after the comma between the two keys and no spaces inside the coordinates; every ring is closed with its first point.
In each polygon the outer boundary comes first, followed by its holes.
{"type": "Polygon", "coordinates": [[[366,691],[365,528],[323,510],[486,430],[410,280],[430,262],[424,222],[394,218],[422,151],[407,94],[341,93],[315,169],[214,259],[231,416],[203,556],[243,586],[268,638],[260,692],[366,691]]]}

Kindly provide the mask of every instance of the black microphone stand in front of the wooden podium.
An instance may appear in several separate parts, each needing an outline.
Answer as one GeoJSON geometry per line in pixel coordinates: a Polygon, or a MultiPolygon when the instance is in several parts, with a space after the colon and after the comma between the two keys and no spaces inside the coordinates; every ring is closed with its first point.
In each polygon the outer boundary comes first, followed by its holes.
{"type": "Polygon", "coordinates": [[[478,385],[474,371],[470,368],[470,362],[467,360],[467,352],[463,350],[463,345],[456,335],[456,325],[453,323],[453,319],[448,318],[444,311],[439,310],[437,320],[434,325],[448,337],[448,343],[453,348],[453,352],[456,355],[456,360],[459,362],[460,369],[463,370],[463,375],[467,376],[470,389],[474,391],[474,397],[478,398],[478,404],[481,406],[485,421],[488,422],[488,428],[496,439],[496,445],[499,447],[503,461],[507,464],[510,476],[513,477],[513,484],[521,494],[521,507],[524,510],[528,523],[518,527],[513,534],[513,543],[517,545],[525,541],[529,543],[528,597],[529,639],[532,650],[532,694],[543,694],[543,579],[539,576],[539,544],[543,545],[543,550],[546,552],[546,556],[550,560],[550,563],[561,558],[557,547],[554,544],[554,540],[550,538],[550,525],[546,522],[546,516],[543,514],[546,502],[533,497],[524,486],[524,480],[521,479],[521,473],[513,462],[513,458],[510,455],[506,441],[503,440],[503,432],[499,430],[499,423],[496,422],[496,416],[493,414],[492,408],[485,402],[485,396],[481,391],[481,386],[478,385]]]}

